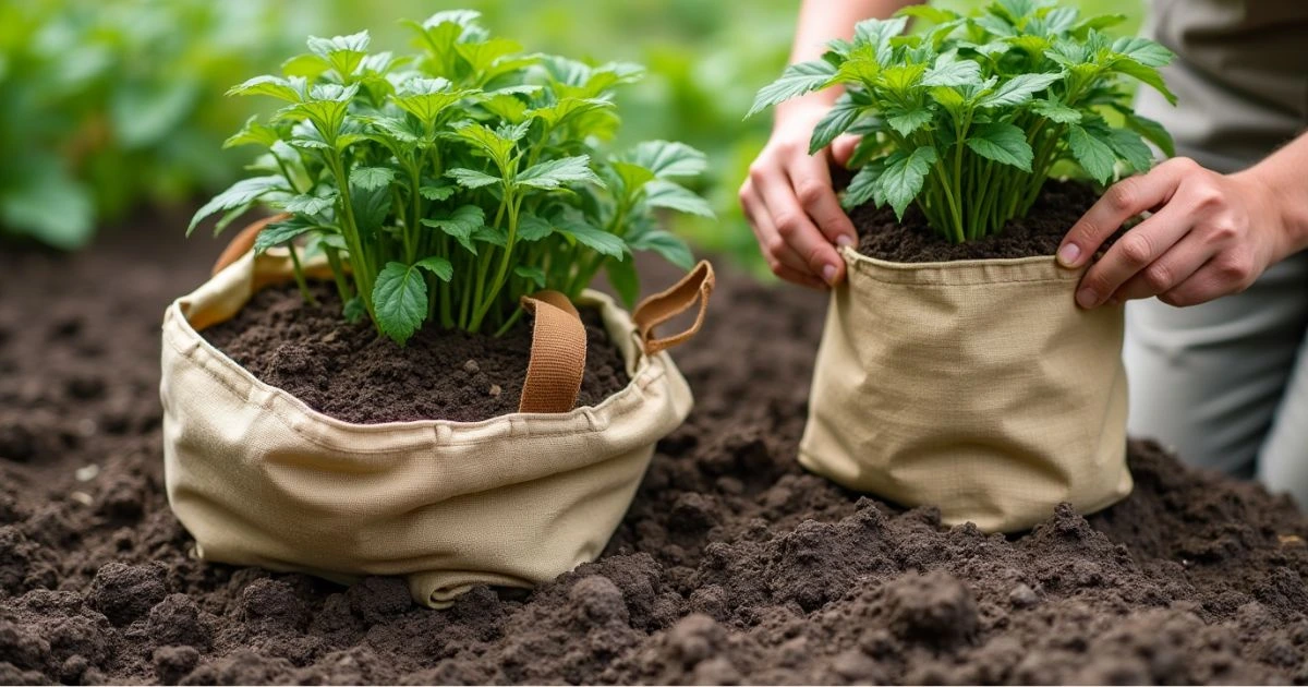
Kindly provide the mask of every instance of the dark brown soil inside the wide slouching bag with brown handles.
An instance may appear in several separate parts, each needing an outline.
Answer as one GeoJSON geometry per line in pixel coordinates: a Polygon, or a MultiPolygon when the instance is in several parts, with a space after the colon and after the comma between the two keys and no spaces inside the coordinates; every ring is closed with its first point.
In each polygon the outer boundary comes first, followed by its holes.
{"type": "MultiPolygon", "coordinates": [[[[518,410],[530,323],[498,339],[426,326],[400,347],[369,323],[347,323],[335,289],[315,284],[313,292],[317,306],[294,285],[264,289],[201,334],[255,377],[351,423],[477,421],[518,410]]],[[[630,379],[599,313],[583,310],[582,321],[586,374],[577,402],[595,406],[630,379]]]]}

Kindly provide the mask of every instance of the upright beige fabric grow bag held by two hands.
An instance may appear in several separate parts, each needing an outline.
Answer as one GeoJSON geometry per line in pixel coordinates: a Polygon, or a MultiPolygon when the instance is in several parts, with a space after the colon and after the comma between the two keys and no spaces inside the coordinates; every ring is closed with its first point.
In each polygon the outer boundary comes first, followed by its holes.
{"type": "Polygon", "coordinates": [[[1052,256],[842,254],[849,277],[818,351],[804,467],[986,531],[1130,493],[1122,309],[1076,308],[1080,272],[1052,256]]]}

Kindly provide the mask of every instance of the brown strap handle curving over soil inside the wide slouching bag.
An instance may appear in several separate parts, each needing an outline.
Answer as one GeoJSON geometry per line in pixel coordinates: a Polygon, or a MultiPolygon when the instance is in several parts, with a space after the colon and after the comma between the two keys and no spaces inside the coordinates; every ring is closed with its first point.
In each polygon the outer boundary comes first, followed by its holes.
{"type": "Polygon", "coordinates": [[[518,412],[568,412],[577,406],[586,373],[586,326],[557,291],[523,296],[522,308],[536,315],[536,323],[518,412]]]}

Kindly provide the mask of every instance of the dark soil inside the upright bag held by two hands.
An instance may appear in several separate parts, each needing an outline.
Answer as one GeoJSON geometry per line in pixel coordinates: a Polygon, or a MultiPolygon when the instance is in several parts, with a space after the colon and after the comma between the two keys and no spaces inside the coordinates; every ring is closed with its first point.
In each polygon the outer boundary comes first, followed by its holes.
{"type": "MultiPolygon", "coordinates": [[[[1071,225],[1097,200],[1084,183],[1052,181],[1045,185],[1025,217],[1005,225],[998,234],[951,243],[926,224],[917,205],[909,205],[904,221],[888,205],[871,203],[850,212],[858,229],[858,253],[897,263],[977,260],[984,258],[1029,258],[1053,255],[1071,225]]],[[[1108,242],[1107,245],[1112,245],[1108,242]]]]}

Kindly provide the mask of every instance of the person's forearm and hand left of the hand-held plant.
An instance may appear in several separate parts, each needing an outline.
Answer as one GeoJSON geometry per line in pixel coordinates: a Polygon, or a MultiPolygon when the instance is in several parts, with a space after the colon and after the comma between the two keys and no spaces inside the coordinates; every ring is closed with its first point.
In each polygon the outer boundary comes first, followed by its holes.
{"type": "MultiPolygon", "coordinates": [[[[791,64],[821,58],[827,42],[850,39],[854,25],[886,18],[921,0],[803,0],[791,64]]],[[[814,127],[838,92],[808,93],[777,106],[768,145],[749,166],[740,187],[740,205],[773,273],[787,281],[823,288],[845,276],[835,245],[855,241],[854,225],[840,207],[831,182],[832,150],[808,154],[814,127]]],[[[833,144],[836,160],[849,158],[850,139],[833,144]]]]}

